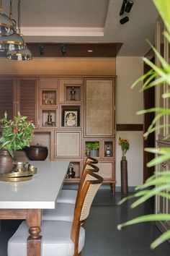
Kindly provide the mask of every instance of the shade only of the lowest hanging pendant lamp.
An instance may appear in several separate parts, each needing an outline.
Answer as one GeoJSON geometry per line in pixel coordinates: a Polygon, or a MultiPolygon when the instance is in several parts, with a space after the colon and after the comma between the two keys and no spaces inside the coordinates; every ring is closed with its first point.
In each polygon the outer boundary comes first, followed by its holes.
{"type": "Polygon", "coordinates": [[[33,59],[32,54],[28,48],[25,48],[21,51],[8,51],[6,58],[15,61],[30,61],[33,59]]]}

